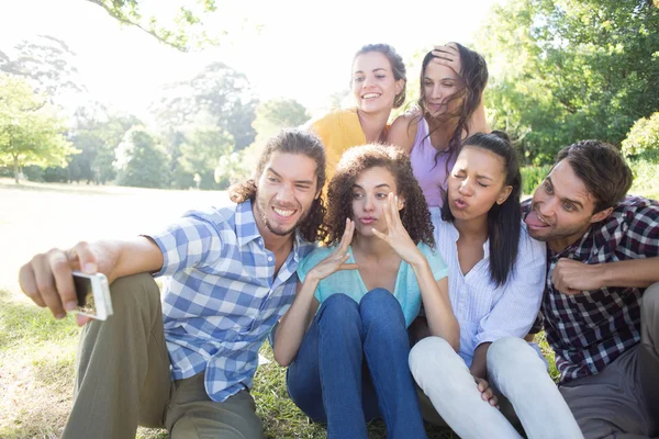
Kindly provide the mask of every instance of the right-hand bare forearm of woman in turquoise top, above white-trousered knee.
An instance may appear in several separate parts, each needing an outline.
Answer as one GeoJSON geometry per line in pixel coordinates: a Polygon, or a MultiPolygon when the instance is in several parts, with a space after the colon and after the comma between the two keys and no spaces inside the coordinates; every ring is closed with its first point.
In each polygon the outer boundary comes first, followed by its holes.
{"type": "Polygon", "coordinates": [[[431,335],[444,338],[458,351],[460,348],[460,327],[450,306],[446,278],[436,281],[427,262],[417,267],[413,266],[413,268],[421,289],[431,335]]]}

